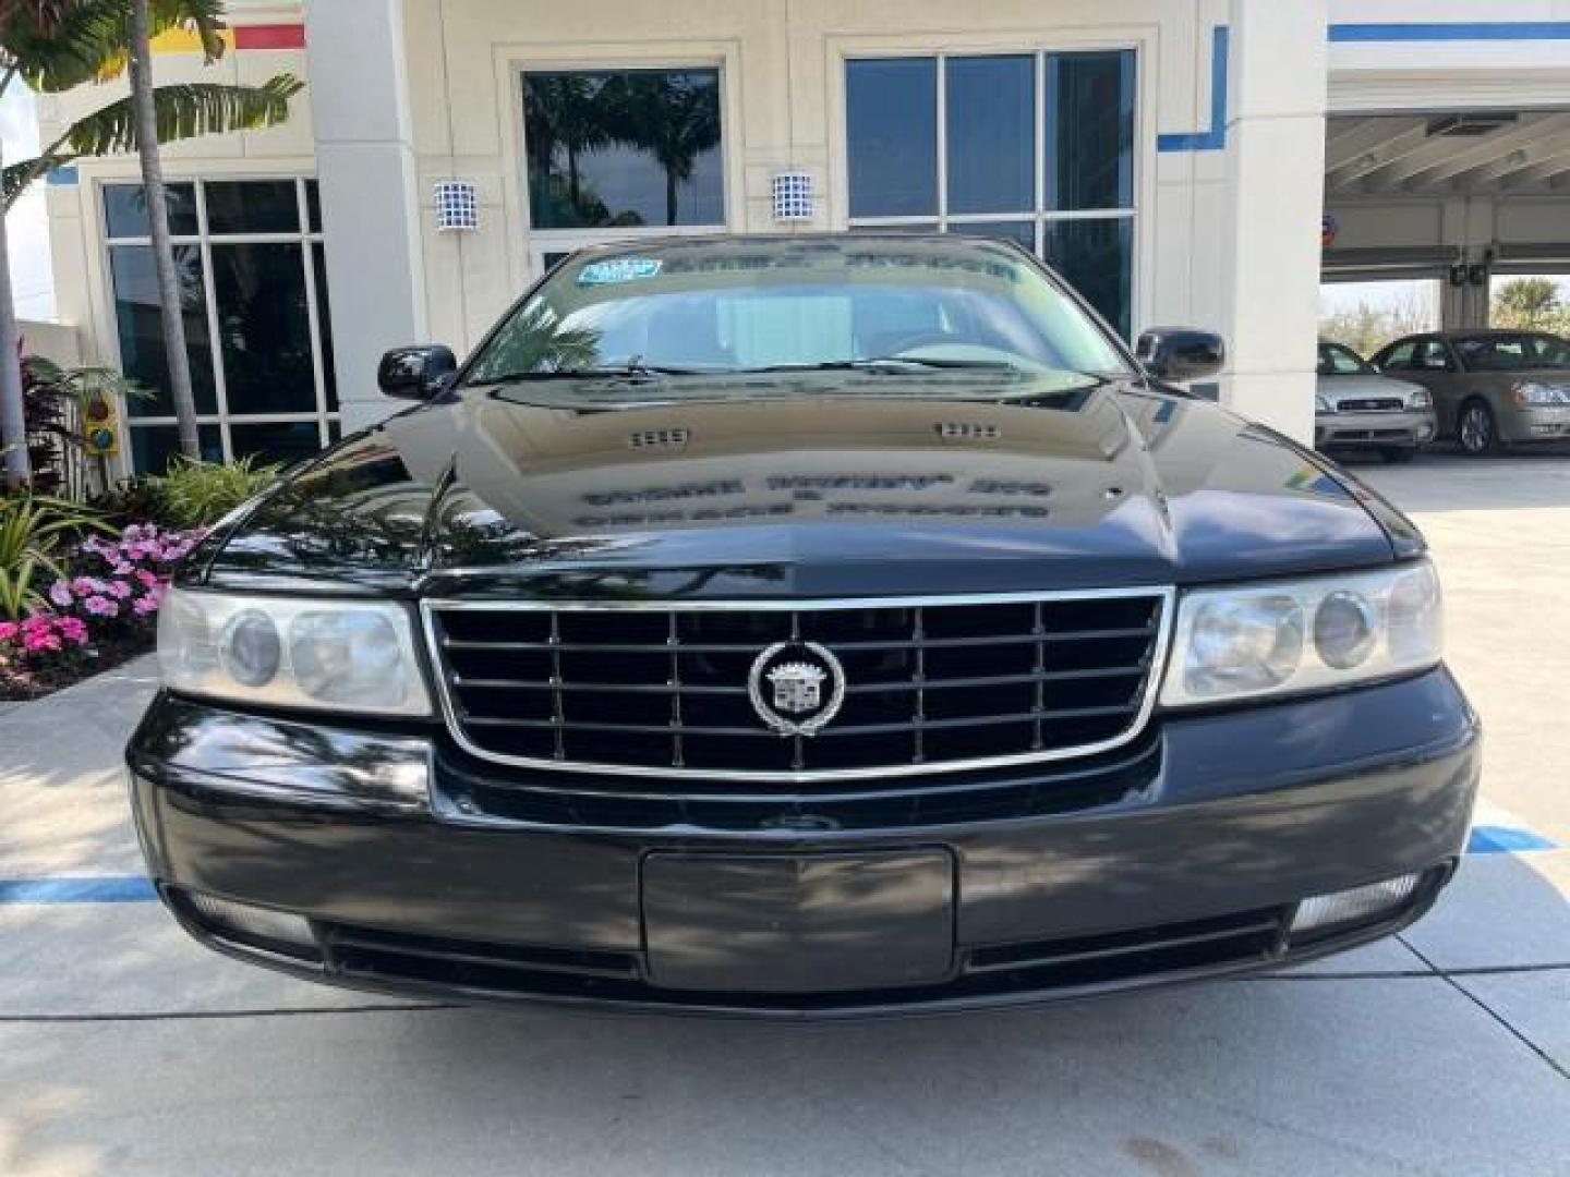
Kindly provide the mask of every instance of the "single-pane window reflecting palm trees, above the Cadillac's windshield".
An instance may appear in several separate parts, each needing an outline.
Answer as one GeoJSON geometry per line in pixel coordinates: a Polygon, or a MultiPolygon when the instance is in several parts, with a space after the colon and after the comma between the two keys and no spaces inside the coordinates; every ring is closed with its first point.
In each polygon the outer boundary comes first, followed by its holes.
{"type": "Polygon", "coordinates": [[[523,75],[534,229],[725,221],[717,69],[523,75]]]}

